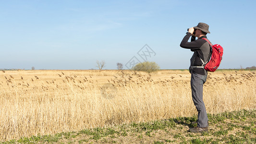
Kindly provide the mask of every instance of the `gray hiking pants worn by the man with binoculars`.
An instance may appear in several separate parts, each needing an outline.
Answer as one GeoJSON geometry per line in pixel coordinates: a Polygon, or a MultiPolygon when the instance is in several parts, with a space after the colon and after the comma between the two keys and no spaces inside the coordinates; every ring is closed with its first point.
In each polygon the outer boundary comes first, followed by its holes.
{"type": "Polygon", "coordinates": [[[207,75],[191,73],[191,90],[192,99],[196,110],[198,111],[198,127],[208,127],[208,117],[206,113],[205,103],[203,101],[203,85],[205,84],[207,75]]]}

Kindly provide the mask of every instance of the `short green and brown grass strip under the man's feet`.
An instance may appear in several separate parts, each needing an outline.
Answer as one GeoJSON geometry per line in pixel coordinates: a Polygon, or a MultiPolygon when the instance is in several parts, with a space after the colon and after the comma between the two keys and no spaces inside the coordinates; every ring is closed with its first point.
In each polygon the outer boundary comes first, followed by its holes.
{"type": "Polygon", "coordinates": [[[78,132],[61,132],[53,135],[23,137],[1,144],[36,143],[178,143],[178,144],[254,144],[256,143],[256,110],[240,110],[208,114],[208,132],[191,133],[192,122],[197,116],[179,117],[148,122],[133,122],[109,128],[85,129],[78,132]],[[125,137],[125,138],[124,138],[125,137]],[[128,142],[127,142],[128,143],[128,142]]]}

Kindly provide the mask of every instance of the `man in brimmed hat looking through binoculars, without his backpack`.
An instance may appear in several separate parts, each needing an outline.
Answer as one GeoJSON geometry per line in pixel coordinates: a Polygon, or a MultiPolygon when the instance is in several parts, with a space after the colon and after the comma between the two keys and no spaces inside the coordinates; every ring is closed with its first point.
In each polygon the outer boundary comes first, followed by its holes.
{"type": "Polygon", "coordinates": [[[207,38],[207,33],[210,33],[208,29],[209,25],[205,23],[189,28],[180,45],[194,52],[190,59],[189,72],[191,73],[192,99],[198,111],[198,117],[197,127],[189,129],[190,132],[208,131],[208,117],[203,101],[203,85],[207,79],[207,71],[203,67],[210,58],[211,46],[205,39],[202,39],[207,38]],[[191,42],[188,42],[190,36],[192,36],[191,42]],[[195,37],[197,37],[196,40],[195,37]]]}

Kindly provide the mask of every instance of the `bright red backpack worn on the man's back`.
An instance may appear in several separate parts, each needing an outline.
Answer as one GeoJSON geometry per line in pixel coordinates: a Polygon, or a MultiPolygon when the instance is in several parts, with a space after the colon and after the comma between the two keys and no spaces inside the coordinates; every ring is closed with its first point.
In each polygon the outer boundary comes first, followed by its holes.
{"type": "Polygon", "coordinates": [[[222,60],[223,48],[220,45],[212,45],[206,38],[202,39],[206,40],[212,47],[211,58],[204,68],[208,72],[215,72],[219,67],[220,61],[222,60]]]}

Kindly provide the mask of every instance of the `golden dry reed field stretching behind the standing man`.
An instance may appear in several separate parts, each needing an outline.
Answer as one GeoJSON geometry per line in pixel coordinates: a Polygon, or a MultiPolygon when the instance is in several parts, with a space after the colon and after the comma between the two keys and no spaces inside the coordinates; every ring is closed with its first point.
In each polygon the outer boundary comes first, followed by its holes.
{"type": "MultiPolygon", "coordinates": [[[[209,72],[208,113],[256,108],[256,71],[209,72]]],[[[187,70],[0,71],[0,141],[197,113],[187,70]]]]}

